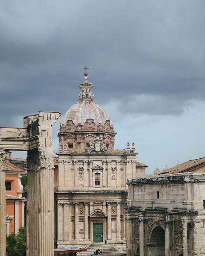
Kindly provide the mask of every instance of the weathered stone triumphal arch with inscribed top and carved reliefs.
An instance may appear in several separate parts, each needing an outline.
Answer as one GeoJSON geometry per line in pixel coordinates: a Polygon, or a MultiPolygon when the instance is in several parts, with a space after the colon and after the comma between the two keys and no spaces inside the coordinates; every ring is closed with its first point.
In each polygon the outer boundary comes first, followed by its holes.
{"type": "Polygon", "coordinates": [[[128,256],[205,255],[203,172],[128,181],[128,256]]]}

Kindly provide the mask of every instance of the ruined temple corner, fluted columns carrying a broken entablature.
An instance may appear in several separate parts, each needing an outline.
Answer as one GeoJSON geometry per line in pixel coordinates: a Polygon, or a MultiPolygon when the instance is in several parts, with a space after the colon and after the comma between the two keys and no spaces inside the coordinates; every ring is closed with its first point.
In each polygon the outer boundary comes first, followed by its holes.
{"type": "Polygon", "coordinates": [[[5,164],[9,150],[27,151],[27,256],[53,255],[54,167],[52,125],[59,112],[23,118],[23,128],[0,128],[0,256],[6,254],[5,164]]]}

